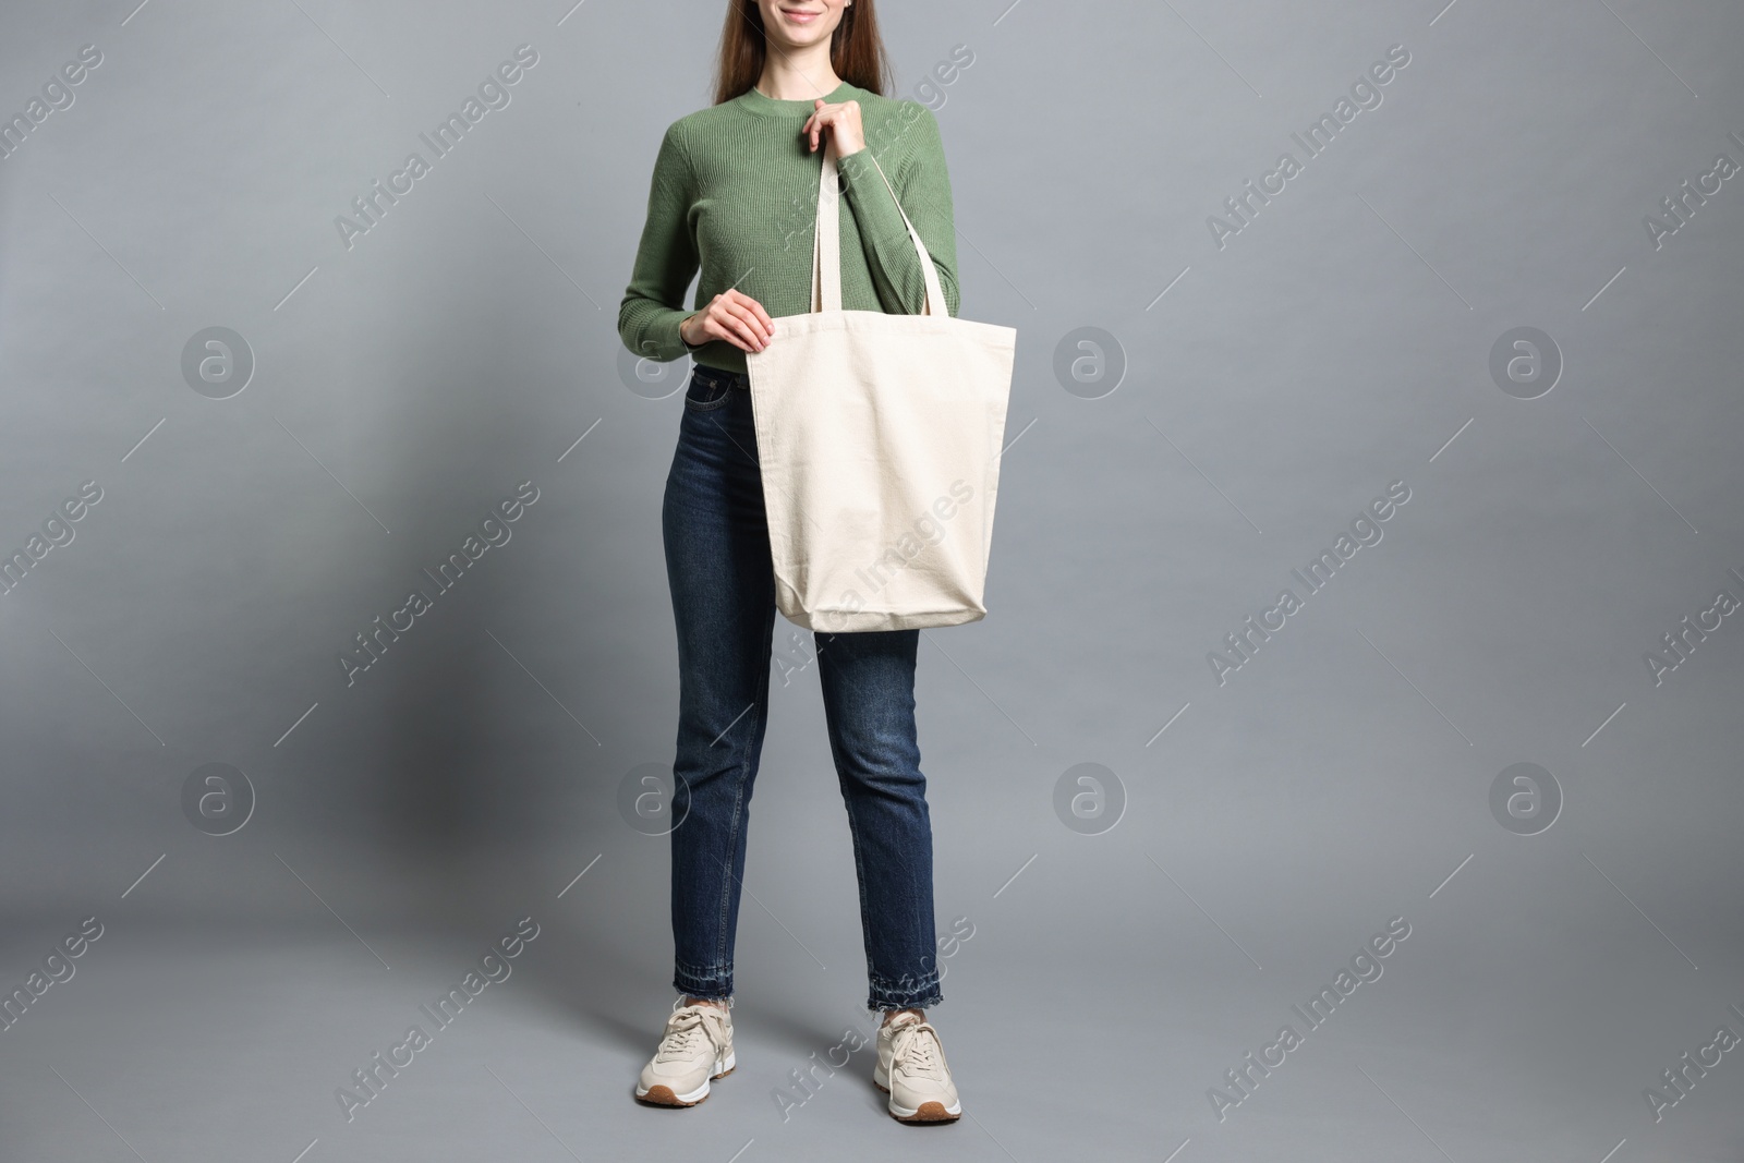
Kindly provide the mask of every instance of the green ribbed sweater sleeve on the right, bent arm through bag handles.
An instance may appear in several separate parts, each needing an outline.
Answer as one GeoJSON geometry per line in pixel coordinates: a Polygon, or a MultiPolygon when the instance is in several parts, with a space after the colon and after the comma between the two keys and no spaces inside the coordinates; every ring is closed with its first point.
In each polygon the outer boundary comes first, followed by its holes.
{"type": "MultiPolygon", "coordinates": [[[[902,211],[909,213],[921,244],[938,270],[938,286],[945,293],[945,310],[957,314],[957,234],[950,214],[950,173],[945,169],[945,146],[938,134],[938,119],[919,101],[902,101],[898,120],[905,129],[893,141],[870,134],[867,148],[837,160],[837,169],[848,181],[848,206],[860,225],[867,267],[877,286],[879,302],[889,314],[917,316],[926,309],[926,277],[921,274],[921,256],[914,253],[909,228],[902,225],[902,211]],[[896,143],[905,146],[907,164],[895,178],[893,159],[896,143]],[[872,159],[877,159],[874,164],[872,159]],[[879,176],[882,167],[884,178],[879,176]],[[891,201],[891,187],[902,199],[902,209],[891,201]]],[[[867,129],[872,129],[867,126],[867,129]]]]}

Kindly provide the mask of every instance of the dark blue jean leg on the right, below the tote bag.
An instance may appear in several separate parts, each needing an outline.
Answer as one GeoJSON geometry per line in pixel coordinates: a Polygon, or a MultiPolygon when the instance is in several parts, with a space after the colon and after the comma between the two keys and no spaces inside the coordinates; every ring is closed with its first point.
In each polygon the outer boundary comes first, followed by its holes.
{"type": "Polygon", "coordinates": [[[921,631],[814,633],[830,753],[848,807],[867,952],[867,1008],[942,1001],[933,825],[914,724],[921,631]]]}

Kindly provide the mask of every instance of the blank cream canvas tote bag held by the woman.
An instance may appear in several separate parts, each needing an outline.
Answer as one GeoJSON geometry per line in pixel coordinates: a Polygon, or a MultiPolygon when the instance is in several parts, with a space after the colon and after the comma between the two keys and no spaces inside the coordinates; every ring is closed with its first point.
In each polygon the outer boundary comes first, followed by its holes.
{"type": "Polygon", "coordinates": [[[926,275],[926,314],[842,310],[830,141],[811,312],[783,316],[774,340],[745,357],[776,609],[809,629],[956,626],[987,614],[1017,330],[950,317],[933,258],[907,211],[902,220],[926,275]]]}

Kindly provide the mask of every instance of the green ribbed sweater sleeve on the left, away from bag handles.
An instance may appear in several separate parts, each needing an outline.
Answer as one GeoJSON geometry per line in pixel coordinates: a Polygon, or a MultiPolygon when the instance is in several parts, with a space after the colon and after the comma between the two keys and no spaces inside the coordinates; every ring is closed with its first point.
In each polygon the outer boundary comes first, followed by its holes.
{"type": "Polygon", "coordinates": [[[684,309],[684,291],[698,270],[687,214],[694,190],[684,129],[680,122],[673,122],[654,157],[647,221],[630,286],[617,307],[617,335],[624,347],[644,359],[678,359],[692,350],[678,337],[678,324],[692,314],[684,309]]]}

